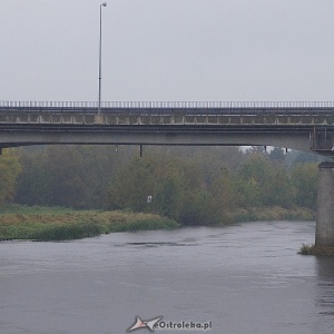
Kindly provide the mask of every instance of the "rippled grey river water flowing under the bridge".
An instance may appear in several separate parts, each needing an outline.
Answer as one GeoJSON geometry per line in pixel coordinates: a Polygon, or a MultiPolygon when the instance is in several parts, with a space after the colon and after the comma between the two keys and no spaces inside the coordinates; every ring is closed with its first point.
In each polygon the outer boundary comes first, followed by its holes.
{"type": "Polygon", "coordinates": [[[333,334],[334,258],[302,256],[314,223],[0,243],[1,334],[333,334]],[[139,328],[132,333],[150,333],[139,328]]]}

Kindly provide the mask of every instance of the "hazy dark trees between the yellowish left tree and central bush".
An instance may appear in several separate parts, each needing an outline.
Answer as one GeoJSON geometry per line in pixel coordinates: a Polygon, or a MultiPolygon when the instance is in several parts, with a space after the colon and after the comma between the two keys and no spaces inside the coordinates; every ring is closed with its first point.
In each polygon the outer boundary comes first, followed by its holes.
{"type": "Polygon", "coordinates": [[[107,185],[130,151],[114,147],[47,146],[20,151],[23,167],[16,202],[26,205],[100,208],[107,185]]]}

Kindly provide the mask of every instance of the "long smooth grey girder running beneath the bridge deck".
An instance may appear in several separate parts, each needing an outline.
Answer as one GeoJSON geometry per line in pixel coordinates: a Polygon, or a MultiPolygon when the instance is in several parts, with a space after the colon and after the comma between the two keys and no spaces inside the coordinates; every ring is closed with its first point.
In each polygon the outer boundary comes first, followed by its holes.
{"type": "MultiPolygon", "coordinates": [[[[27,145],[277,146],[311,151],[308,131],[154,126],[21,126],[2,128],[0,146],[27,145]]],[[[332,148],[332,147],[331,147],[332,148]]]]}

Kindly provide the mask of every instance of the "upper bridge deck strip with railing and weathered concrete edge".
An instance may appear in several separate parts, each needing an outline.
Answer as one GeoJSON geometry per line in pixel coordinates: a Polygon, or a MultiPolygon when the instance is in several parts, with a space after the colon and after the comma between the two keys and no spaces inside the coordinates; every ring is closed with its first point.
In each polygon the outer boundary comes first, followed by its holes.
{"type": "Polygon", "coordinates": [[[0,102],[0,124],[333,126],[334,104],[0,102]],[[228,105],[229,104],[229,105],[228,105]]]}

